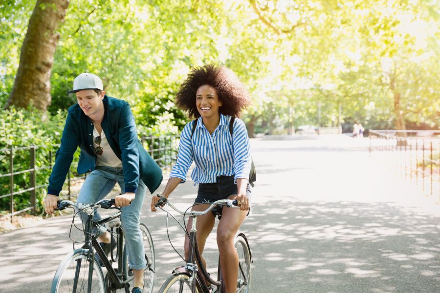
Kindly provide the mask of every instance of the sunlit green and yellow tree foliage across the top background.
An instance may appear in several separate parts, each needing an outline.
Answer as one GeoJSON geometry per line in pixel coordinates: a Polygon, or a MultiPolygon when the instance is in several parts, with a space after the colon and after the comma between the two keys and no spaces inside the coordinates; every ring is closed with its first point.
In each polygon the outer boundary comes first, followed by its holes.
{"type": "MultiPolygon", "coordinates": [[[[0,105],[34,2],[0,4],[0,105]]],[[[156,127],[166,117],[181,129],[188,119],[174,105],[179,84],[192,66],[218,63],[248,85],[244,120],[258,131],[317,124],[318,103],[322,126],[388,127],[395,93],[407,124],[438,128],[438,8],[421,0],[72,0],[49,111],[75,103],[66,91],[88,71],[108,95],[129,101],[138,124],[156,127]]]]}

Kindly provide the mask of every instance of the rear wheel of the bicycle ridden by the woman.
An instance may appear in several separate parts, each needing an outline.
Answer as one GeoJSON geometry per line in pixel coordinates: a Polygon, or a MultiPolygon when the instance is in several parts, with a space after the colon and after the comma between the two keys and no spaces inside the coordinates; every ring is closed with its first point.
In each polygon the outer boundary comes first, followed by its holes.
{"type": "Polygon", "coordinates": [[[237,292],[249,293],[251,285],[251,252],[244,234],[238,234],[234,239],[234,247],[239,257],[239,272],[237,280],[237,292]]]}

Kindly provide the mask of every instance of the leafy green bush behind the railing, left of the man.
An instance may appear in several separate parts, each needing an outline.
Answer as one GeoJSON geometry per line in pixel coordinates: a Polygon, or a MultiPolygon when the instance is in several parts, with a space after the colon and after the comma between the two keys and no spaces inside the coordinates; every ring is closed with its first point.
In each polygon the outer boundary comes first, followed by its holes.
{"type": "MultiPolygon", "coordinates": [[[[35,151],[36,186],[47,184],[51,164],[55,160],[57,145],[61,142],[61,132],[64,127],[66,113],[58,111],[56,115],[42,117],[36,110],[2,110],[0,111],[0,174],[10,173],[9,148],[13,150],[14,172],[24,171],[32,167],[31,147],[39,146],[35,151]]],[[[72,167],[73,169],[73,167],[72,167]]],[[[30,172],[14,175],[13,192],[30,188],[30,172]]],[[[0,178],[0,195],[11,192],[10,176],[0,178]]],[[[25,209],[30,206],[30,192],[14,195],[15,210],[25,209]]],[[[37,210],[42,210],[42,199],[45,188],[38,188],[37,210]]],[[[0,199],[0,210],[8,210],[10,197],[0,199]]]]}

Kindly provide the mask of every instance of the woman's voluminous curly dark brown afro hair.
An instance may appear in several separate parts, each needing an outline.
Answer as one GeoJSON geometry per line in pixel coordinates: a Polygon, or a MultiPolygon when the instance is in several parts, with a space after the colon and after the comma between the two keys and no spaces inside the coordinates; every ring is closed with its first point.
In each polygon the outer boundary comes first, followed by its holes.
{"type": "Polygon", "coordinates": [[[217,91],[223,103],[219,112],[223,115],[240,117],[243,108],[249,105],[249,93],[232,70],[225,66],[204,65],[191,70],[176,94],[176,105],[188,111],[190,117],[200,117],[196,107],[196,92],[204,84],[217,91]]]}

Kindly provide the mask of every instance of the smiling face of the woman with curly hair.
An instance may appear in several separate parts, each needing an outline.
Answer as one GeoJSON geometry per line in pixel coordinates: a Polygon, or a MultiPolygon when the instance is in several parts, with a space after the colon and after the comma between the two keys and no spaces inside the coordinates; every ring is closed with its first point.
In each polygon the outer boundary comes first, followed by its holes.
{"type": "Polygon", "coordinates": [[[216,89],[211,85],[203,84],[197,89],[196,106],[201,117],[211,118],[219,115],[219,107],[222,104],[216,89]]]}

